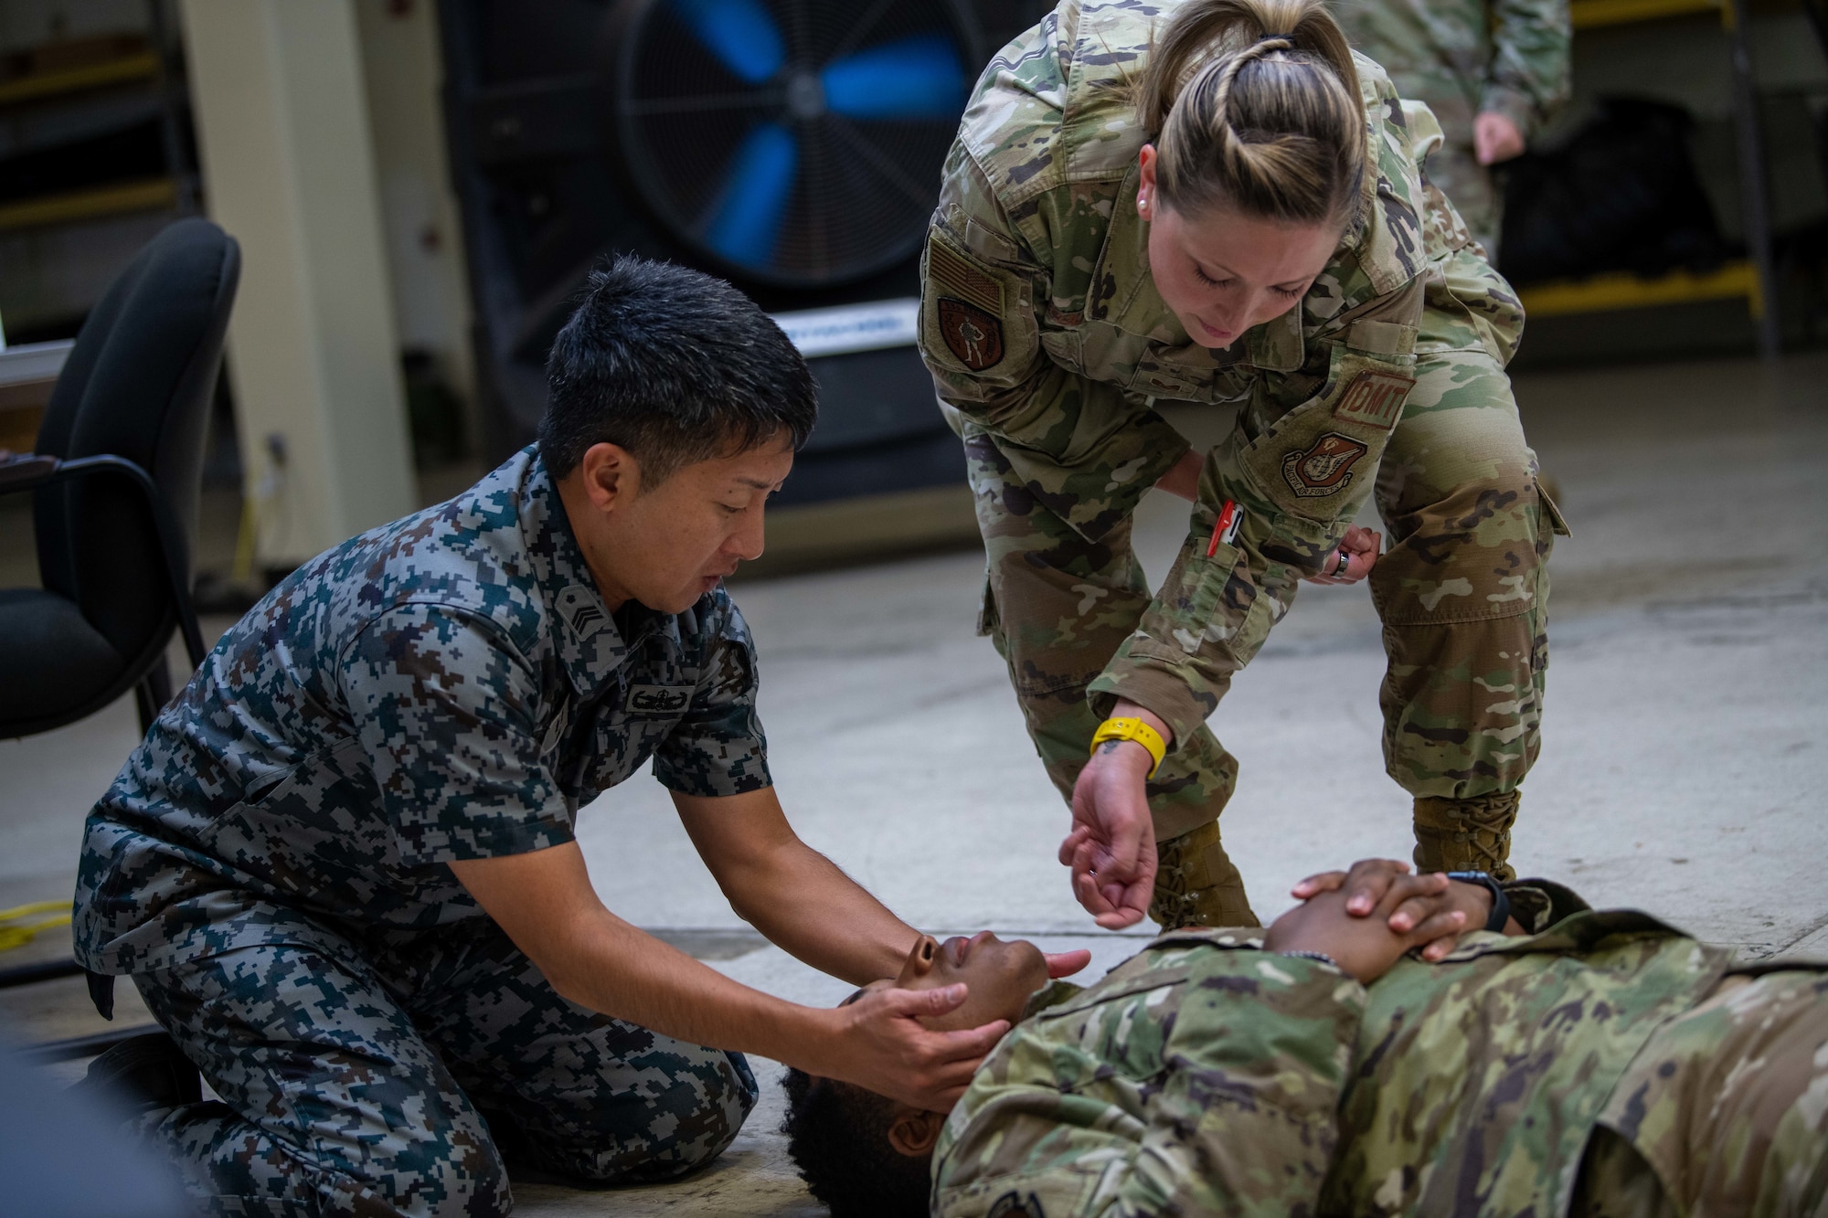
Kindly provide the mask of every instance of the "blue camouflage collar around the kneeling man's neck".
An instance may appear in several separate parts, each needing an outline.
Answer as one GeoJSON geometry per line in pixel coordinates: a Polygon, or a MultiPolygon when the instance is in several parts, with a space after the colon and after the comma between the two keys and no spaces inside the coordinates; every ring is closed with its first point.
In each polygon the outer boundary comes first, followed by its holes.
{"type": "Polygon", "coordinates": [[[534,578],[539,582],[539,594],[547,602],[559,664],[578,695],[590,699],[616,677],[634,647],[656,631],[671,627],[673,618],[631,602],[622,614],[631,638],[623,638],[603,594],[596,589],[583,549],[565,516],[565,503],[537,452],[521,494],[521,536],[532,560],[534,578]]]}

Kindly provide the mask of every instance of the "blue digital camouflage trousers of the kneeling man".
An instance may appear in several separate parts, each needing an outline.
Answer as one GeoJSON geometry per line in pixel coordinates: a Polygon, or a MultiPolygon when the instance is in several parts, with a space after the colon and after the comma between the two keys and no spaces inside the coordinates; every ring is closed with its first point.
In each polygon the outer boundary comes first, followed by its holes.
{"type": "Polygon", "coordinates": [[[505,1119],[536,1169],[607,1183],[707,1163],[755,1103],[739,1055],[567,1002],[494,924],[324,940],[135,977],[223,1097],[143,1121],[212,1214],[503,1214],[505,1119]]]}

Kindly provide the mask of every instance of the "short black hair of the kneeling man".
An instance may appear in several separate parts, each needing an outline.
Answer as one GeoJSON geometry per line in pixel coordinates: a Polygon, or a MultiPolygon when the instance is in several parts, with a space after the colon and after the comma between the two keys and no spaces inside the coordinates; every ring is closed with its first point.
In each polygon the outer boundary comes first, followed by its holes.
{"type": "Polygon", "coordinates": [[[680,466],[812,433],[819,404],[806,360],[755,302],[724,280],[645,258],[590,272],[547,357],[539,455],[552,477],[592,444],[627,448],[642,485],[680,466]]]}

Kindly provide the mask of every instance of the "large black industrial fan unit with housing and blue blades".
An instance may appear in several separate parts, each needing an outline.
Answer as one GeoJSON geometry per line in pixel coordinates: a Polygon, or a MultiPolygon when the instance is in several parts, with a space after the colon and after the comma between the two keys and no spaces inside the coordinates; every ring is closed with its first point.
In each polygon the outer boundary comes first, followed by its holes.
{"type": "Polygon", "coordinates": [[[442,0],[488,455],[616,252],[724,276],[812,362],[784,503],[956,483],[912,347],[940,168],[991,49],[1046,0],[442,0]]]}

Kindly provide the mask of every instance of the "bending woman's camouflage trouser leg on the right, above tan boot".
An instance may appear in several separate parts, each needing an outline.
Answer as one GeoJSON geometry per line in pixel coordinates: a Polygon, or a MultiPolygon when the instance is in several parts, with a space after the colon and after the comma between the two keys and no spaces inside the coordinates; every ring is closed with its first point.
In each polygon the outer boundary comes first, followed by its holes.
{"type": "Polygon", "coordinates": [[[1419,797],[1512,792],[1541,746],[1554,538],[1490,355],[1419,360],[1376,501],[1389,529],[1371,571],[1389,657],[1384,764],[1419,797]]]}

